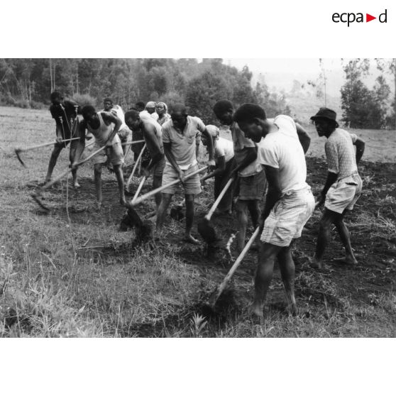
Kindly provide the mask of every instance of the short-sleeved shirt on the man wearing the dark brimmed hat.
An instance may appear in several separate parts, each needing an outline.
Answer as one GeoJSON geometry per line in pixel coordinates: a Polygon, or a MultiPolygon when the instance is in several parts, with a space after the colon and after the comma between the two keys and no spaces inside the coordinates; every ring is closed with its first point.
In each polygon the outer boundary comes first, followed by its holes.
{"type": "Polygon", "coordinates": [[[353,143],[356,143],[357,138],[354,133],[336,128],[324,145],[329,172],[338,174],[339,179],[351,176],[358,170],[353,148],[353,143]]]}

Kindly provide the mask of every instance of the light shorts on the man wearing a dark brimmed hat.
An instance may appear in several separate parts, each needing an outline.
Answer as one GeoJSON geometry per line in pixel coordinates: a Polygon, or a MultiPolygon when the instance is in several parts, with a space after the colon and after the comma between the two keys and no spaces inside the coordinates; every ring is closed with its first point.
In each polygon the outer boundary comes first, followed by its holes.
{"type": "Polygon", "coordinates": [[[353,205],[361,196],[363,182],[356,173],[337,180],[326,194],[324,207],[336,213],[343,213],[345,209],[352,210],[353,205]]]}

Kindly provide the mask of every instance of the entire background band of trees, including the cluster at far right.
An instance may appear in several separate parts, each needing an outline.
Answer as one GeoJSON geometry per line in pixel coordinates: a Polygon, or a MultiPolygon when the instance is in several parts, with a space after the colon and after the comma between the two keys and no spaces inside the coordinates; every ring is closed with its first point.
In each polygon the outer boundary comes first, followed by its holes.
{"type": "MultiPolygon", "coordinates": [[[[341,123],[351,128],[395,129],[392,91],[396,87],[391,89],[389,84],[396,86],[396,60],[353,59],[343,62],[343,72],[341,123]],[[372,72],[370,62],[375,62],[379,74],[371,89],[365,84],[372,72]]],[[[111,97],[124,109],[136,101],[164,101],[170,106],[181,101],[206,123],[215,122],[211,108],[224,98],[236,106],[260,104],[268,116],[291,113],[285,92],[268,89],[263,79],[253,87],[252,77],[247,66],[238,70],[221,58],[0,59],[0,104],[40,108],[49,104],[50,92],[57,89],[82,104],[100,106],[104,97],[111,97]]],[[[320,59],[317,81],[297,85],[312,86],[326,105],[326,75],[320,59]]],[[[295,87],[290,91],[293,100],[308,100],[297,91],[295,87]]]]}

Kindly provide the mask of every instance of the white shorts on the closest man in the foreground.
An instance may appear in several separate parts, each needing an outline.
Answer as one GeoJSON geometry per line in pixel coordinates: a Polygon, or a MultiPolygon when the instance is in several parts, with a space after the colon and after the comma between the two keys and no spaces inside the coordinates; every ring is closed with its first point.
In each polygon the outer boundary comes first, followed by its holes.
{"type": "Polygon", "coordinates": [[[302,229],[315,209],[311,188],[286,192],[265,219],[260,241],[275,246],[290,246],[301,236],[302,229]]]}

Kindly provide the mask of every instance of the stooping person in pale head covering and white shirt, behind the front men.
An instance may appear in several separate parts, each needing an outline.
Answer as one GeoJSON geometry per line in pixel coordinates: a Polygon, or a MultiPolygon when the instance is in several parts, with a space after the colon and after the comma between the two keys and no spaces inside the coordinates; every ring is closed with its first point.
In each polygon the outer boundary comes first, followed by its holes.
{"type": "MultiPolygon", "coordinates": [[[[233,156],[233,143],[229,139],[221,138],[219,128],[214,125],[207,125],[207,131],[211,134],[214,146],[214,162],[216,163],[216,169],[213,172],[208,173],[202,177],[201,182],[204,182],[211,177],[214,177],[214,199],[219,197],[219,194],[224,186],[231,177],[231,172],[235,167],[235,160],[233,156]]],[[[202,144],[207,146],[206,136],[201,137],[202,144]]],[[[231,214],[232,198],[233,198],[233,186],[235,182],[231,183],[229,189],[221,199],[219,206],[217,207],[220,212],[226,212],[231,214]]]]}

